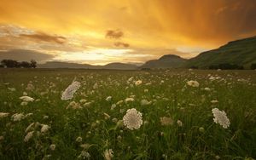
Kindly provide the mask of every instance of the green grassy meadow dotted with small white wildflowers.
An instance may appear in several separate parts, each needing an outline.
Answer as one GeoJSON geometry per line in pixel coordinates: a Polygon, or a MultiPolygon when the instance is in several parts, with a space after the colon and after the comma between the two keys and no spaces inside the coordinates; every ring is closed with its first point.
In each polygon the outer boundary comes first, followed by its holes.
{"type": "Polygon", "coordinates": [[[0,159],[256,158],[256,71],[1,69],[0,112],[9,113],[0,117],[0,159]],[[61,100],[73,81],[81,87],[61,100]],[[131,108],[143,114],[139,129],[122,122],[131,108]],[[228,129],[212,108],[226,112],[228,129]]]}

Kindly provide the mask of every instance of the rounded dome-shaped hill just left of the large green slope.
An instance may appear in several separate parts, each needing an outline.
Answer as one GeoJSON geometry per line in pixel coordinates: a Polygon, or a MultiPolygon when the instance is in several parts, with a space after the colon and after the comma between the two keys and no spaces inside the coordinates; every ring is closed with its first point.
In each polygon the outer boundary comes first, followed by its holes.
{"type": "Polygon", "coordinates": [[[174,54],[166,54],[158,60],[148,60],[140,68],[179,68],[184,65],[186,59],[174,54]]]}

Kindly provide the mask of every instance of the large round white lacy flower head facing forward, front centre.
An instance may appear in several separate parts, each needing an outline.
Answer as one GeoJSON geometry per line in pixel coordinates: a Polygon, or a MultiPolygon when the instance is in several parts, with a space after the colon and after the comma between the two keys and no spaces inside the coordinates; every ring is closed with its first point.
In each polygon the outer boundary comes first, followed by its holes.
{"type": "Polygon", "coordinates": [[[128,129],[139,129],[143,124],[143,114],[135,108],[131,108],[126,111],[123,121],[128,129]]]}

